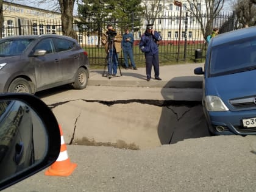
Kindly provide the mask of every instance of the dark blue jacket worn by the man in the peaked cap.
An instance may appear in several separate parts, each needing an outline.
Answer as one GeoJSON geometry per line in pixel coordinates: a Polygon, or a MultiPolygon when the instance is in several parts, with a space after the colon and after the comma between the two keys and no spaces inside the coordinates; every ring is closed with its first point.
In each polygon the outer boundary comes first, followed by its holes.
{"type": "Polygon", "coordinates": [[[157,41],[162,40],[161,35],[158,32],[154,32],[154,35],[149,34],[147,31],[141,35],[140,38],[140,49],[145,55],[155,55],[158,54],[158,44],[157,41]]]}

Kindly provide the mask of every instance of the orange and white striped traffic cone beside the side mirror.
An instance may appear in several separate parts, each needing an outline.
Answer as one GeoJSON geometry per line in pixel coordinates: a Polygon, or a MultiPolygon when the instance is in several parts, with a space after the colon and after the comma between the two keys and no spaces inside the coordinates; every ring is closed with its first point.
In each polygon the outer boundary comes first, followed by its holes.
{"type": "Polygon", "coordinates": [[[76,168],[76,163],[71,163],[68,157],[68,151],[63,137],[62,127],[60,128],[60,154],[57,160],[49,167],[44,174],[46,176],[69,176],[76,168]]]}

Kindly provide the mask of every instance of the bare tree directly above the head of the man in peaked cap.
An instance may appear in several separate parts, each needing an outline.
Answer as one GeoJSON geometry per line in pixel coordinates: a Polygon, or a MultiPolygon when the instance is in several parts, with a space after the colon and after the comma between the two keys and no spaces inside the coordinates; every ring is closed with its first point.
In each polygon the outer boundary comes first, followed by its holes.
{"type": "Polygon", "coordinates": [[[158,13],[161,9],[161,2],[162,0],[149,0],[143,1],[143,8],[144,8],[144,16],[146,18],[147,23],[154,23],[155,18],[157,18],[158,13]]]}

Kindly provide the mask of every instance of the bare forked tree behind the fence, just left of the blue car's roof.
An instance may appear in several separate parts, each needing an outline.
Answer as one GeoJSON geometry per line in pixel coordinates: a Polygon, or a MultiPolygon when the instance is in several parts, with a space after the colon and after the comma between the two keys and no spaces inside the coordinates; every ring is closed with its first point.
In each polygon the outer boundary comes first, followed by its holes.
{"type": "Polygon", "coordinates": [[[207,38],[207,35],[209,35],[213,30],[213,21],[215,18],[219,15],[221,12],[221,9],[224,5],[225,0],[187,0],[188,4],[190,4],[188,7],[188,12],[191,13],[191,15],[196,17],[196,20],[201,26],[202,34],[204,35],[204,38],[207,38]],[[201,9],[202,5],[205,3],[205,10],[201,9]],[[204,23],[206,21],[206,26],[204,26],[204,23]]]}

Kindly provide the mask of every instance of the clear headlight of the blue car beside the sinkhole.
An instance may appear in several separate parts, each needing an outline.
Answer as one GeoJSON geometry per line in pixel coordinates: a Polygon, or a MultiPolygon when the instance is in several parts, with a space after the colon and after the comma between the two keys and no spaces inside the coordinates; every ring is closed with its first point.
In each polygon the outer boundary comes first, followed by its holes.
{"type": "Polygon", "coordinates": [[[221,98],[212,95],[205,97],[205,107],[209,112],[226,112],[229,110],[221,98]]]}

